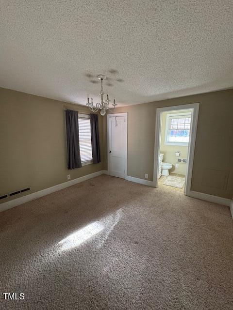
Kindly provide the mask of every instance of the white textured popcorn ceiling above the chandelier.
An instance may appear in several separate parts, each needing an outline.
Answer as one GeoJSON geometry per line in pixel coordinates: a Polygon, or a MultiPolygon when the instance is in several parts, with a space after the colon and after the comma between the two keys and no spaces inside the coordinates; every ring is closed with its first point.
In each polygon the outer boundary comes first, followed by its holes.
{"type": "Polygon", "coordinates": [[[233,87],[233,0],[1,0],[0,86],[121,105],[233,87]],[[109,85],[106,85],[109,84],[109,85]]]}

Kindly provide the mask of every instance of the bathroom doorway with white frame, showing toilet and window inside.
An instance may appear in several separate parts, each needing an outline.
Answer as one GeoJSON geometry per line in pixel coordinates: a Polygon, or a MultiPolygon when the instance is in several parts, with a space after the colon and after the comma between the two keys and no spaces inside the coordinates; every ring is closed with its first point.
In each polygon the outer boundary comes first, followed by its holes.
{"type": "Polygon", "coordinates": [[[199,104],[157,109],[154,186],[189,195],[199,104]]]}

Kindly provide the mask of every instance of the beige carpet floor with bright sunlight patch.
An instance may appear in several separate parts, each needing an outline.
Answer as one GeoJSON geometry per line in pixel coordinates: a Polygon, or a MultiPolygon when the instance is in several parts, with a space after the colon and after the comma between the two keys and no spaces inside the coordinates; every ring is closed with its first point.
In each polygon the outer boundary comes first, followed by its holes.
{"type": "MultiPolygon", "coordinates": [[[[169,187],[169,186],[166,186],[169,187]]],[[[0,308],[232,310],[229,207],[101,175],[0,214],[0,308]]]]}

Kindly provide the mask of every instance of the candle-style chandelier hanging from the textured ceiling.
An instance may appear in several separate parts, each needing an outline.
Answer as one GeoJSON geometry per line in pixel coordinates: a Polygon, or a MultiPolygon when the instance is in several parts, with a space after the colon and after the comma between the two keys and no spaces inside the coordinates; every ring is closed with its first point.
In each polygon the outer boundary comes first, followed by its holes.
{"type": "MultiPolygon", "coordinates": [[[[96,113],[98,111],[100,111],[100,114],[102,116],[104,116],[106,114],[106,112],[109,110],[110,111],[110,108],[109,108],[109,98],[108,98],[108,94],[107,94],[107,99],[104,101],[103,100],[103,95],[104,95],[104,92],[103,92],[103,79],[106,79],[106,76],[100,74],[99,76],[97,76],[98,79],[101,80],[101,91],[99,93],[100,97],[101,97],[101,103],[98,102],[96,103],[96,105],[93,105],[93,99],[91,98],[91,102],[89,101],[89,97],[87,97],[87,106],[89,107],[89,109],[96,113]]],[[[117,106],[116,104],[116,101],[115,101],[115,98],[113,99],[113,107],[115,109],[115,107],[117,106]]]]}

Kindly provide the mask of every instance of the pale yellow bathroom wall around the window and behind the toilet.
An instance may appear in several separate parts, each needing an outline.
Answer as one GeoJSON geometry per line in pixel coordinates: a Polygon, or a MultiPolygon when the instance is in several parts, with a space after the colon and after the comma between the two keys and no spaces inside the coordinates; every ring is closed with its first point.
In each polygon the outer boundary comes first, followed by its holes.
{"type": "MultiPolygon", "coordinates": [[[[185,110],[187,111],[187,110],[185,110]]],[[[181,110],[180,112],[183,112],[181,110]]],[[[187,158],[188,155],[188,147],[180,146],[180,145],[166,145],[165,144],[165,131],[166,131],[166,116],[167,114],[172,114],[174,111],[163,112],[161,117],[161,140],[160,140],[160,153],[164,154],[163,162],[172,164],[172,168],[169,172],[185,174],[186,175],[186,166],[185,163],[179,163],[179,167],[176,168],[177,158],[187,158]],[[177,157],[175,152],[180,151],[181,156],[177,157]]]]}

